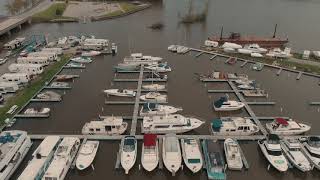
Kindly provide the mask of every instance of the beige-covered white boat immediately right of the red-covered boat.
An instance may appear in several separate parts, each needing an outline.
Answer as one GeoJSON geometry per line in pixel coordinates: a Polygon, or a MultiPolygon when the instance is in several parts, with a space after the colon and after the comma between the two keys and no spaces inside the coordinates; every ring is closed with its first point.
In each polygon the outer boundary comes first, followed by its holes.
{"type": "Polygon", "coordinates": [[[163,137],[162,158],[164,166],[174,175],[181,167],[181,149],[176,136],[169,134],[163,137]]]}

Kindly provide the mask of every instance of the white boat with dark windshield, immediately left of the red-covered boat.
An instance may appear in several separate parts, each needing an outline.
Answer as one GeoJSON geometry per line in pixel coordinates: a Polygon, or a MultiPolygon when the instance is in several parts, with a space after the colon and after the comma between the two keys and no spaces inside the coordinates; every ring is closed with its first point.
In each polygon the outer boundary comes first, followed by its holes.
{"type": "Polygon", "coordinates": [[[126,136],[121,145],[121,166],[125,173],[133,167],[137,159],[137,140],[134,136],[126,136]]]}

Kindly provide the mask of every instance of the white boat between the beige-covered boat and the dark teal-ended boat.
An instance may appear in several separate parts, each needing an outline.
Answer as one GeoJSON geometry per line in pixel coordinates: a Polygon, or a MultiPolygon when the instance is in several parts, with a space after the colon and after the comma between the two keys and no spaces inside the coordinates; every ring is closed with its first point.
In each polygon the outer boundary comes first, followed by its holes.
{"type": "Polygon", "coordinates": [[[203,166],[203,158],[198,141],[192,138],[181,139],[181,150],[184,164],[188,169],[193,173],[199,172],[203,166]]]}

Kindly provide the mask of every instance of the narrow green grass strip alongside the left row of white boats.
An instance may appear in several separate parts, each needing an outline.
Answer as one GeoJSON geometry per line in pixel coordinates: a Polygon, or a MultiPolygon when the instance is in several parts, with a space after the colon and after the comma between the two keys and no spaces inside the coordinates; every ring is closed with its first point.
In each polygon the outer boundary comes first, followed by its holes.
{"type": "MultiPolygon", "coordinates": [[[[13,115],[6,112],[13,105],[18,105],[19,109],[24,106],[51,78],[62,68],[69,60],[68,55],[64,55],[59,62],[56,62],[45,69],[45,71],[34,79],[23,89],[19,90],[13,97],[9,98],[4,107],[0,108],[0,125],[4,124],[6,118],[12,118],[13,115]]],[[[18,109],[18,110],[19,110],[18,109]]]]}

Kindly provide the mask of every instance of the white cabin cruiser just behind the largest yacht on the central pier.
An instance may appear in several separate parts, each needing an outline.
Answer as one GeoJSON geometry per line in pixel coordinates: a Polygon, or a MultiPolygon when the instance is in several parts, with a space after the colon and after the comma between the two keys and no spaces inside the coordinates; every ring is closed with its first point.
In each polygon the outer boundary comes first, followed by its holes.
{"type": "Polygon", "coordinates": [[[178,111],[182,111],[182,108],[160,105],[156,103],[146,103],[141,107],[140,116],[160,116],[166,114],[174,114],[178,111]]]}

